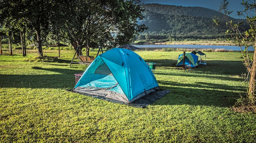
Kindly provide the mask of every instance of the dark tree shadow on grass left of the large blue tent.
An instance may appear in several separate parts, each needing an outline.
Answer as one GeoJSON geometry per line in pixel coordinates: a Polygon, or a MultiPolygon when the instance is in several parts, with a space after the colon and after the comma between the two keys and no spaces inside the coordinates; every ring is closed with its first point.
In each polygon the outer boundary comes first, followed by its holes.
{"type": "Polygon", "coordinates": [[[33,74],[33,75],[2,75],[0,74],[0,86],[5,88],[61,88],[72,89],[75,86],[74,74],[81,73],[81,70],[41,68],[32,67],[34,72],[46,70],[56,74],[33,74]]]}

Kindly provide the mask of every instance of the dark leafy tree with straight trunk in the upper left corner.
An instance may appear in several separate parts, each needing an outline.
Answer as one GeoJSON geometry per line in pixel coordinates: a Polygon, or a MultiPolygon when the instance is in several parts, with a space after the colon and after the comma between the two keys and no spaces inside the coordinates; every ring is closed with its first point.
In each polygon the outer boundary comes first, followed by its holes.
{"type": "MultiPolygon", "coordinates": [[[[56,10],[55,0],[2,0],[0,6],[0,23],[6,27],[22,29],[24,26],[36,33],[38,55],[43,56],[41,33],[49,30],[56,10]]],[[[8,33],[7,33],[8,34],[8,33]]]]}

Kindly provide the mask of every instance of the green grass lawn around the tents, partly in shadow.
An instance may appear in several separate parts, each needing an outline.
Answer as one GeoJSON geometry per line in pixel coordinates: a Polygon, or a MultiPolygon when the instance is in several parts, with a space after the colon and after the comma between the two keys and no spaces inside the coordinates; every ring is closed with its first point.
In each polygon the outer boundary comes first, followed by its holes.
{"type": "Polygon", "coordinates": [[[66,91],[87,67],[69,67],[74,51],[46,61],[33,50],[13,53],[0,55],[0,143],[256,142],[256,115],[230,108],[246,92],[240,52],[205,52],[207,66],[182,70],[183,52],[137,51],[156,63],[160,88],[171,91],[146,108],[66,91]]]}

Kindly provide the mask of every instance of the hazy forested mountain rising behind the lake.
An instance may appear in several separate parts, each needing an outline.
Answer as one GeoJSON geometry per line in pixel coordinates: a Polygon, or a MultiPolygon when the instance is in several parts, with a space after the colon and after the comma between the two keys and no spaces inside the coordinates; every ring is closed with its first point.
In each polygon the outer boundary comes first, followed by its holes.
{"type": "MultiPolygon", "coordinates": [[[[144,4],[145,30],[138,39],[216,39],[225,37],[225,23],[214,26],[214,17],[223,14],[203,7],[144,4]]],[[[230,17],[231,18],[231,17],[230,17]]],[[[235,20],[234,18],[231,18],[235,20]]]]}

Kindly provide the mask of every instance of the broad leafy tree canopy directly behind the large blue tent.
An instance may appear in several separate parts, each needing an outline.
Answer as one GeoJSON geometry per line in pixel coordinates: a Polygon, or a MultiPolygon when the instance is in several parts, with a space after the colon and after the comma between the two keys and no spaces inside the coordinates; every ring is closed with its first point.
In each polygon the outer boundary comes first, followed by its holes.
{"type": "MultiPolygon", "coordinates": [[[[69,1],[70,3],[70,1],[69,1]]],[[[138,25],[142,19],[142,6],[138,0],[81,0],[62,6],[65,11],[65,31],[73,47],[115,47],[132,42],[134,34],[146,26],[138,25]]]]}

